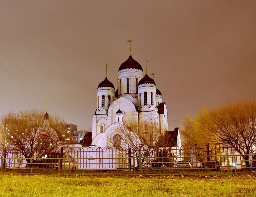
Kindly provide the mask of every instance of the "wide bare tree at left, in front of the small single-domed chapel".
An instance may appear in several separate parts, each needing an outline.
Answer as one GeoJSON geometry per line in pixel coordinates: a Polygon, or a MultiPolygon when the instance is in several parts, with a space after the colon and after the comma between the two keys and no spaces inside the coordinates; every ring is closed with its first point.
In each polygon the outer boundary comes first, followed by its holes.
{"type": "Polygon", "coordinates": [[[44,111],[8,113],[1,118],[1,136],[25,158],[41,158],[65,144],[65,121],[58,116],[44,117],[44,111]]]}

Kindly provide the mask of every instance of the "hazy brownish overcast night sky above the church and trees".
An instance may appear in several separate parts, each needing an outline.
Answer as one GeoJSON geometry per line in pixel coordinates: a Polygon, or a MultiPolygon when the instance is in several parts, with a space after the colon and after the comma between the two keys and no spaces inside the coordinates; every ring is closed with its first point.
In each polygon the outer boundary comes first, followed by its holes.
{"type": "Polygon", "coordinates": [[[169,129],[201,106],[255,98],[255,10],[256,1],[0,0],[0,115],[49,101],[49,114],[91,128],[104,65],[116,86],[128,39],[156,73],[169,129]]]}

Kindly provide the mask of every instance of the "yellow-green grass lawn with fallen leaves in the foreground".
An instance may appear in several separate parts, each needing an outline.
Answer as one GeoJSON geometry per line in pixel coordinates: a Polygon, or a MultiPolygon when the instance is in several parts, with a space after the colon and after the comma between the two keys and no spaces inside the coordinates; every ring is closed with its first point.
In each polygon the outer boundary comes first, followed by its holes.
{"type": "Polygon", "coordinates": [[[0,174],[0,196],[255,196],[255,176],[88,177],[0,174]]]}

